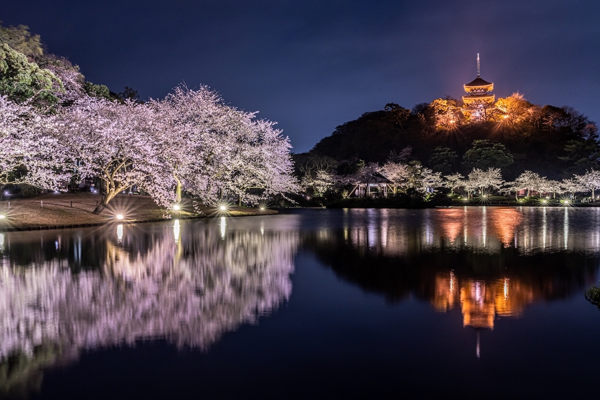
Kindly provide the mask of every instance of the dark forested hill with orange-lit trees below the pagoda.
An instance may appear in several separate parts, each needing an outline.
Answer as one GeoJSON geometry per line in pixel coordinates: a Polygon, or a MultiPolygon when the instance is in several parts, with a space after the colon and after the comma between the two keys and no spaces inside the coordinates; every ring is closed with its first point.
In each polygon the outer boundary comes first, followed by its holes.
{"type": "Polygon", "coordinates": [[[499,167],[505,179],[524,170],[558,179],[598,167],[596,125],[571,107],[535,106],[520,94],[486,107],[485,121],[470,122],[453,99],[412,110],[390,103],[340,125],[309,154],[342,163],[383,164],[391,152],[401,154],[410,147],[408,160],[434,172],[499,167]]]}

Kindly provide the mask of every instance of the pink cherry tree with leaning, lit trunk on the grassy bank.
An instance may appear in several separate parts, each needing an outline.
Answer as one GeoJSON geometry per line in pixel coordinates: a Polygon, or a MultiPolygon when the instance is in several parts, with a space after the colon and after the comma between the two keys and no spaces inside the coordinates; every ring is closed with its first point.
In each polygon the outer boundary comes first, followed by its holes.
{"type": "Polygon", "coordinates": [[[166,187],[161,153],[169,144],[149,107],[83,97],[63,112],[63,135],[80,179],[97,177],[103,197],[94,213],[101,213],[118,193],[151,179],[166,187]]]}

